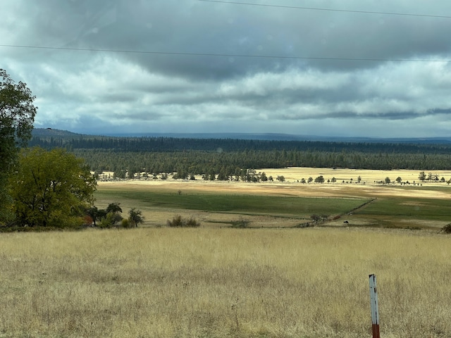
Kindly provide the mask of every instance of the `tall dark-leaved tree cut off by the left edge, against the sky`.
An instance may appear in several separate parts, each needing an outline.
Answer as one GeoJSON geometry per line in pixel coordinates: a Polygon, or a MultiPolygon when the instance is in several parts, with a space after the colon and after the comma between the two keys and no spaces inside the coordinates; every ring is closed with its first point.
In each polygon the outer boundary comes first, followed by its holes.
{"type": "Polygon", "coordinates": [[[31,139],[37,107],[35,96],[27,84],[14,82],[0,69],[0,223],[11,220],[11,196],[8,195],[8,175],[16,161],[20,146],[31,139]]]}

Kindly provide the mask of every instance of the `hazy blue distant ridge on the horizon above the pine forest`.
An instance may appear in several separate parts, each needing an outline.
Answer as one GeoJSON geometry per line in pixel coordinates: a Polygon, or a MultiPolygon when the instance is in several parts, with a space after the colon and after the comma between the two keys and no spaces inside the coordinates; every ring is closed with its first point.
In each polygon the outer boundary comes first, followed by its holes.
{"type": "Polygon", "coordinates": [[[58,130],[53,128],[35,128],[32,131],[33,137],[173,137],[180,139],[257,139],[264,141],[319,141],[319,142],[350,142],[350,143],[413,143],[413,144],[451,144],[451,137],[336,137],[336,136],[315,136],[315,135],[295,135],[279,133],[236,133],[236,132],[216,132],[216,133],[177,133],[177,132],[147,132],[147,133],[121,133],[121,134],[79,134],[68,130],[58,130]]]}

